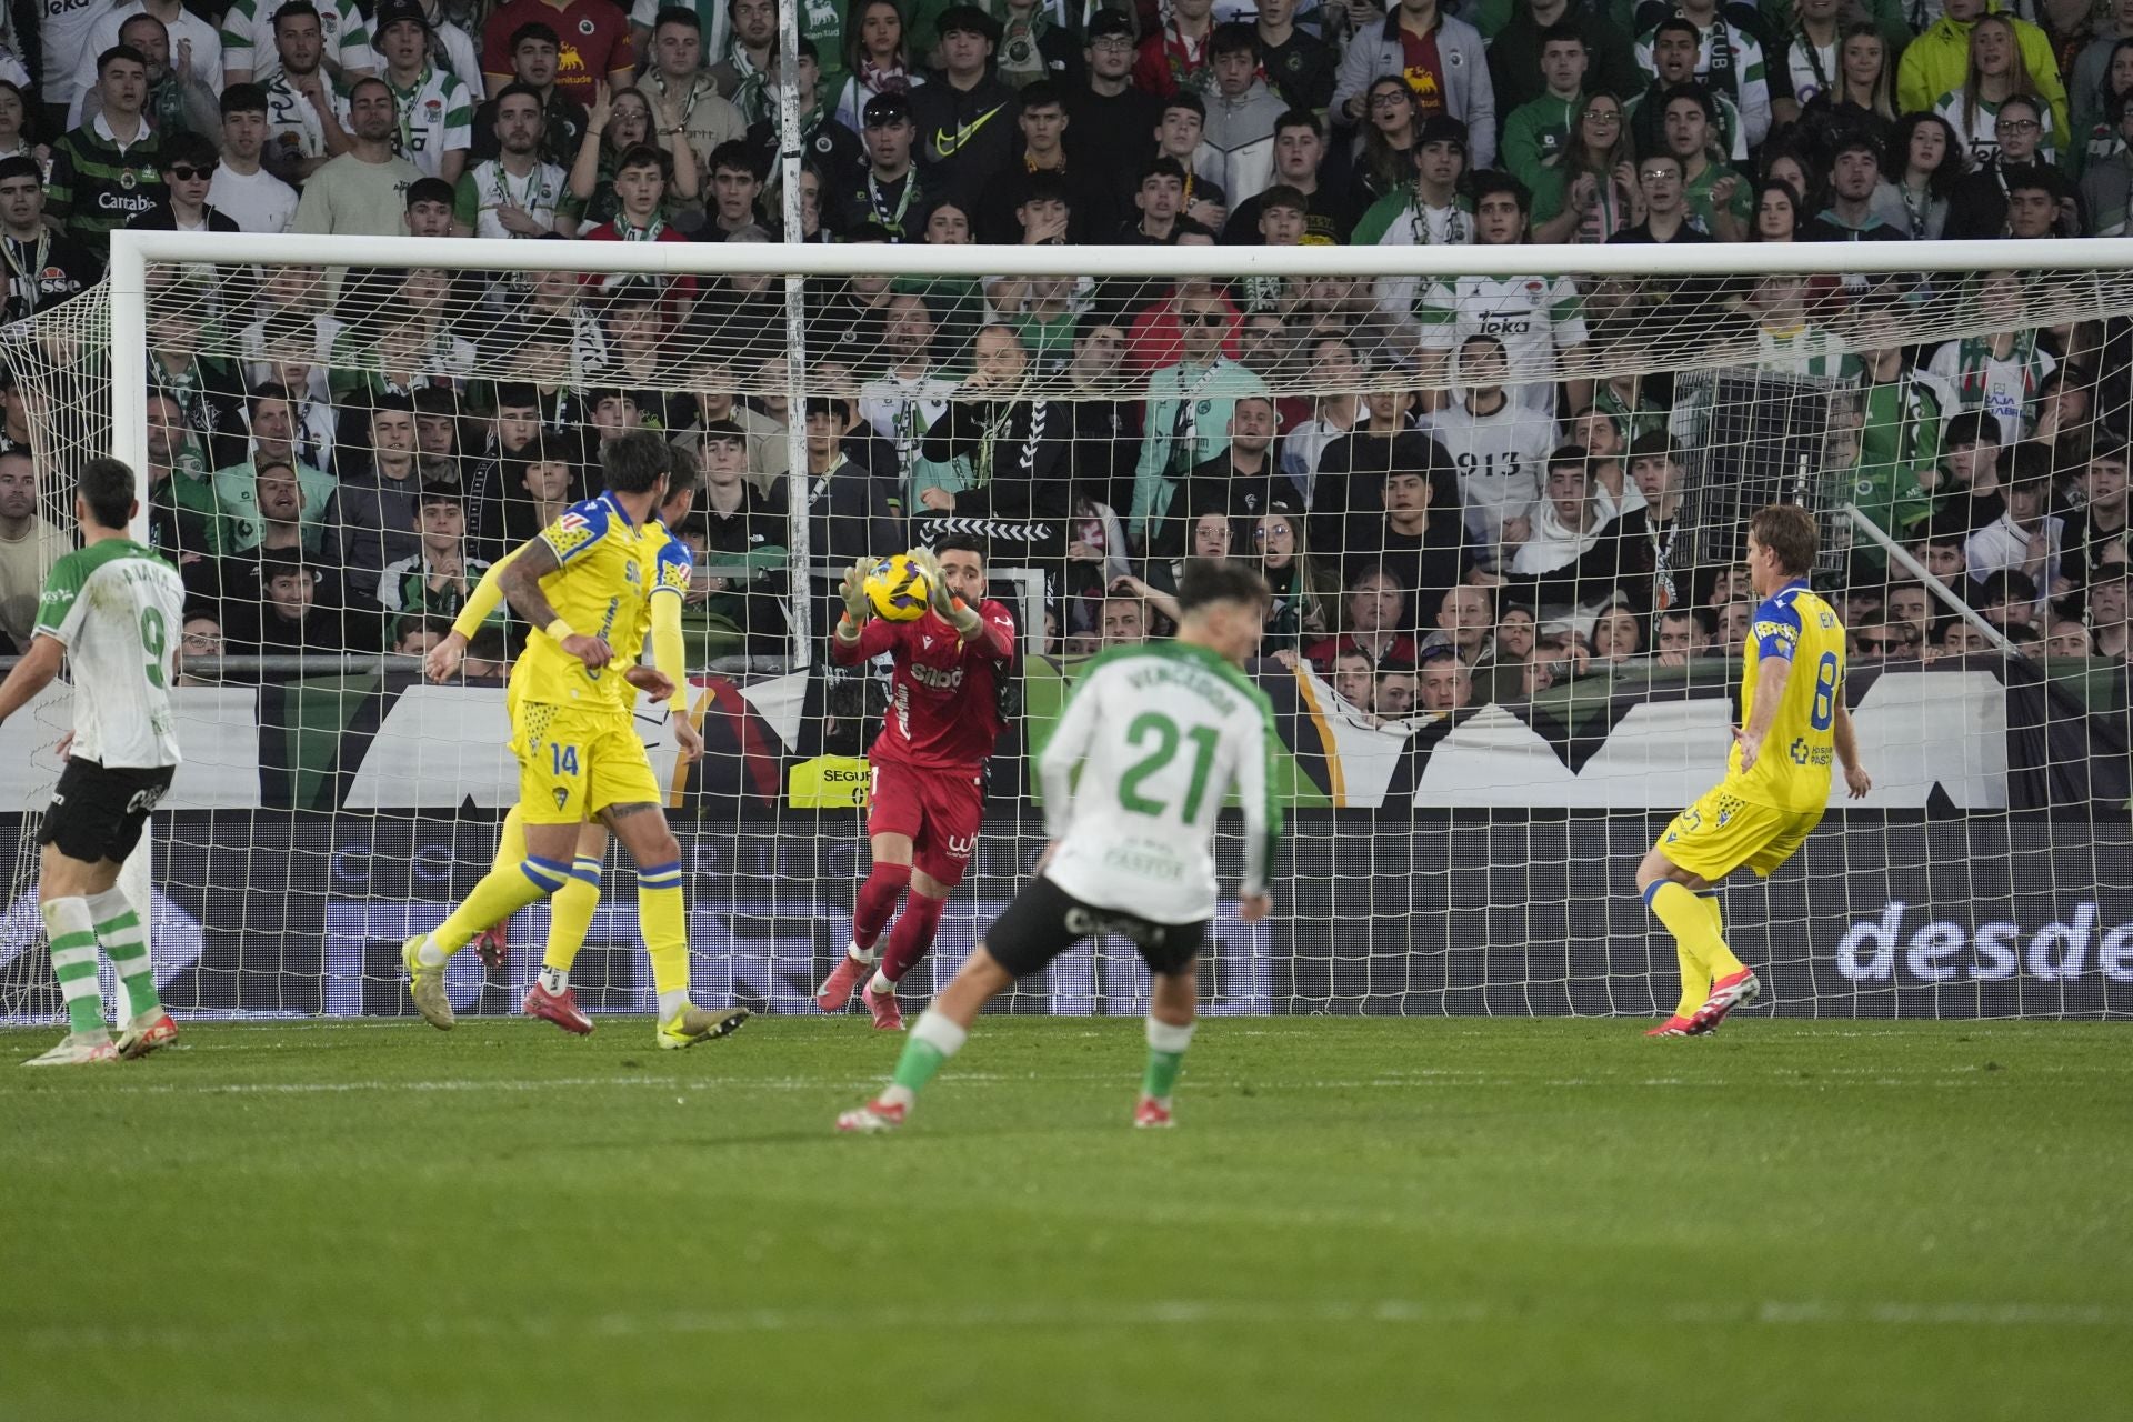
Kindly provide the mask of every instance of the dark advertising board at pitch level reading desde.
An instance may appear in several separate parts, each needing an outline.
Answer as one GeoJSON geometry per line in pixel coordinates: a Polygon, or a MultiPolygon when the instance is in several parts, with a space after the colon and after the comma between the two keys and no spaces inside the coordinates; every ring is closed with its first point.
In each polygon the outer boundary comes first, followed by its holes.
{"type": "MultiPolygon", "coordinates": [[[[1203,966],[1214,1015],[1655,1015],[1674,953],[1632,874],[1662,821],[1645,814],[1440,814],[1386,823],[1303,812],[1276,915],[1218,921],[1203,966]]],[[[704,1002],[806,1013],[843,951],[866,866],[862,819],[770,812],[678,829],[689,942],[704,1002]]],[[[19,851],[21,821],[0,823],[19,851]]],[[[988,817],[949,900],[924,996],[1024,883],[1035,819],[988,817]]],[[[154,951],[181,1011],[405,1015],[399,942],[437,923],[484,872],[493,817],[158,817],[154,951]]],[[[1224,883],[1239,846],[1220,842],[1224,883]]],[[[19,859],[17,859],[19,861],[19,859]]],[[[636,895],[610,898],[574,972],[595,1013],[648,1011],[636,895]]],[[[2133,831],[2031,817],[1915,821],[1832,814],[1768,883],[1723,891],[1728,938],[1764,976],[1755,1006],[1787,1017],[2133,1015],[2133,831]]],[[[544,910],[512,923],[510,966],[454,959],[463,1011],[512,1013],[535,970],[544,910]]],[[[1011,1011],[1137,1015],[1145,976],[1124,942],[1084,947],[1022,983],[1011,1011]]],[[[0,1017],[58,1011],[28,883],[0,919],[0,1017]]]]}

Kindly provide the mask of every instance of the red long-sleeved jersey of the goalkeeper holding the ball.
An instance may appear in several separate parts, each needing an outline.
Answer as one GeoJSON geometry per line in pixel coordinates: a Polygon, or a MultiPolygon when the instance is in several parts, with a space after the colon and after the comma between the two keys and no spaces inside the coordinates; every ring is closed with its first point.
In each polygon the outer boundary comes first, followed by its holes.
{"type": "Polygon", "coordinates": [[[857,642],[832,633],[830,659],[838,665],[889,652],[889,714],[881,718],[868,757],[915,770],[979,770],[1000,738],[1000,682],[1015,657],[1015,618],[994,599],[979,603],[985,618],[964,642],[932,612],[911,623],[870,620],[857,642]]]}

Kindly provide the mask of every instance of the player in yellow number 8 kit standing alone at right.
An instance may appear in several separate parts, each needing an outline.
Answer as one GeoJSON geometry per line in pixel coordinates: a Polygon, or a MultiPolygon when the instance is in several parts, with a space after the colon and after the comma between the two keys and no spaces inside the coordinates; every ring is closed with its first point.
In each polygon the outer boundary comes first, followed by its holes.
{"type": "Polygon", "coordinates": [[[1762,605],[1741,672],[1745,725],[1734,729],[1726,778],[1636,866],[1636,887],[1681,962],[1681,1002],[1647,1036],[1700,1036],[1762,991],[1726,947],[1717,898],[1698,895],[1743,863],[1768,876],[1800,849],[1830,804],[1832,757],[1854,799],[1873,789],[1845,708],[1845,629],[1807,586],[1815,546],[1815,518],[1794,503],[1758,510],[1747,524],[1749,582],[1762,605]]]}

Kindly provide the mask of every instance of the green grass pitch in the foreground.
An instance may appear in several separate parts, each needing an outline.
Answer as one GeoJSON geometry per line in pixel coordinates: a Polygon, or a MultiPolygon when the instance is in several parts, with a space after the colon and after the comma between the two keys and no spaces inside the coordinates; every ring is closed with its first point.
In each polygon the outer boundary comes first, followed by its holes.
{"type": "MultiPolygon", "coordinates": [[[[0,1418],[2133,1416],[2095,1023],[194,1025],[0,1068],[0,1418]]],[[[53,1030],[0,1034],[28,1057],[53,1030]]]]}

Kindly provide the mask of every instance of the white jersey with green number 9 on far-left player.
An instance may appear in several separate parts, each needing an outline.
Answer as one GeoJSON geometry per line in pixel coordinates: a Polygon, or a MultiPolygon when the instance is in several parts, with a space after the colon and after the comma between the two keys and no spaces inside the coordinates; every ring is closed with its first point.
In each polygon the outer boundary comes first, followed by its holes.
{"type": "Polygon", "coordinates": [[[36,637],[75,669],[73,755],[111,767],[177,765],[171,648],[186,625],[186,584],[154,548],[107,537],[51,565],[36,637]]]}

